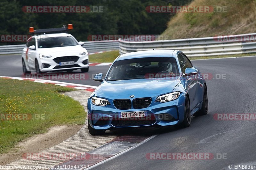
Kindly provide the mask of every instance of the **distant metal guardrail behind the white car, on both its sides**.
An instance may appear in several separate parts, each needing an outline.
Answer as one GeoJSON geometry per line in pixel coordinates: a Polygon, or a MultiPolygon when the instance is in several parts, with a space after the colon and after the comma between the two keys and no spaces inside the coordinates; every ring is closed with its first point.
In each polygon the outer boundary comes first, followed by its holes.
{"type": "MultiPolygon", "coordinates": [[[[89,53],[119,49],[118,41],[85,41],[82,47],[89,53]]],[[[23,48],[25,44],[0,46],[0,54],[21,54],[23,48]]]]}

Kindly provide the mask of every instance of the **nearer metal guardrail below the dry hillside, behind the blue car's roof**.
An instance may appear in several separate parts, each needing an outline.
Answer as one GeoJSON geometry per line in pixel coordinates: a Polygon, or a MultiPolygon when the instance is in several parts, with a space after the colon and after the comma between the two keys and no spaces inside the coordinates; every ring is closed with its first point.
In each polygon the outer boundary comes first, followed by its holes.
{"type": "Polygon", "coordinates": [[[220,41],[218,37],[188,38],[162,41],[124,41],[119,39],[119,53],[152,49],[177,49],[189,57],[229,55],[256,52],[256,33],[228,35],[234,41],[220,41]]]}

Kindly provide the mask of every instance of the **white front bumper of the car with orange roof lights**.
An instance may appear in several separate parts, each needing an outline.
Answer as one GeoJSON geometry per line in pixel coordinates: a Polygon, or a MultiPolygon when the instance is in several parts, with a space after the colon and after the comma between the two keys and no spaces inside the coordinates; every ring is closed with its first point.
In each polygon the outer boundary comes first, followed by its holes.
{"type": "Polygon", "coordinates": [[[79,59],[73,65],[60,66],[60,64],[56,63],[53,59],[56,58],[43,58],[38,60],[39,68],[42,72],[46,71],[58,71],[58,70],[70,70],[70,69],[82,69],[89,67],[89,57],[88,55],[77,55],[79,59]],[[85,64],[83,63],[84,61],[85,64]],[[49,64],[50,66],[45,68],[44,65],[49,64]]]}

